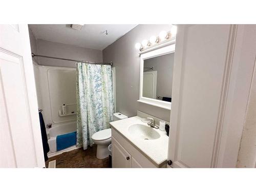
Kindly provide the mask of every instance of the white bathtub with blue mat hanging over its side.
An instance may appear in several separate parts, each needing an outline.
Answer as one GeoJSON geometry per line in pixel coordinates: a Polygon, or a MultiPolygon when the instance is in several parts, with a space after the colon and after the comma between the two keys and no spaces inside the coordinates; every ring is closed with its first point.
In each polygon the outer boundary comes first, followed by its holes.
{"type": "MultiPolygon", "coordinates": [[[[63,135],[67,133],[71,133],[76,131],[76,121],[70,122],[70,123],[63,123],[63,124],[58,124],[58,125],[53,125],[51,128],[47,129],[47,132],[50,135],[50,139],[48,139],[48,144],[50,147],[50,152],[48,153],[53,154],[57,152],[57,145],[56,145],[56,137],[58,135],[63,135]]],[[[76,145],[68,147],[64,150],[61,150],[59,152],[65,152],[67,149],[74,148],[76,145]]],[[[49,157],[48,155],[48,157],[49,157]]],[[[58,155],[58,154],[56,154],[58,155]]]]}

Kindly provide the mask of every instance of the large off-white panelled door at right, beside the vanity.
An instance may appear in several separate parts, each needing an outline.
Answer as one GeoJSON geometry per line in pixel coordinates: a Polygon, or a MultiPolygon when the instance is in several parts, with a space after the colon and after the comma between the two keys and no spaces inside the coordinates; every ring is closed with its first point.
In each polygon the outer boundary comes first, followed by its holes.
{"type": "MultiPolygon", "coordinates": [[[[250,74],[247,69],[253,69],[250,63],[240,65],[244,61],[240,60],[243,31],[234,25],[178,27],[168,151],[170,166],[236,166],[248,97],[249,83],[245,82],[250,74]],[[242,86],[240,82],[245,84],[242,86]],[[236,123],[232,123],[234,121],[236,123]],[[225,158],[229,160],[224,165],[225,158]]],[[[254,54],[252,59],[255,59],[255,53],[247,53],[254,54]]]]}

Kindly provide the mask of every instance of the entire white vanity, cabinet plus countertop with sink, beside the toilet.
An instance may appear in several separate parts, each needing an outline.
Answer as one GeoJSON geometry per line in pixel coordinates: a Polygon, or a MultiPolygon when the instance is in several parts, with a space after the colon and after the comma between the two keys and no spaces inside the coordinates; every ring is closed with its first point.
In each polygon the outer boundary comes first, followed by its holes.
{"type": "MultiPolygon", "coordinates": [[[[124,158],[124,163],[126,164],[124,167],[166,166],[168,136],[165,131],[160,131],[159,129],[148,126],[145,122],[145,118],[139,116],[114,121],[110,124],[112,127],[112,144],[119,145],[116,147],[123,150],[120,154],[126,154],[127,156],[124,158]],[[146,138],[145,136],[145,138],[143,138],[141,132],[134,132],[135,126],[148,128],[150,130],[149,132],[154,132],[154,134],[150,133],[153,137],[146,138]],[[131,162],[129,163],[129,161],[131,162]]],[[[116,150],[114,147],[112,151],[114,153],[112,154],[112,158],[115,167],[115,156],[118,156],[118,151],[120,150],[116,150]]],[[[121,157],[118,158],[121,159],[121,157]]],[[[122,162],[118,162],[117,164],[116,167],[123,167],[122,162]]]]}

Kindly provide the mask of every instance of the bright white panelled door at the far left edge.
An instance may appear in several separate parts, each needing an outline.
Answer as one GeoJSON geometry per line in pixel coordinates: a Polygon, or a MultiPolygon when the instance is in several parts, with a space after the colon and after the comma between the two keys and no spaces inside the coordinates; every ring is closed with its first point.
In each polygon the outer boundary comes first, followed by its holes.
{"type": "Polygon", "coordinates": [[[45,167],[28,25],[0,38],[0,167],[45,167]]]}

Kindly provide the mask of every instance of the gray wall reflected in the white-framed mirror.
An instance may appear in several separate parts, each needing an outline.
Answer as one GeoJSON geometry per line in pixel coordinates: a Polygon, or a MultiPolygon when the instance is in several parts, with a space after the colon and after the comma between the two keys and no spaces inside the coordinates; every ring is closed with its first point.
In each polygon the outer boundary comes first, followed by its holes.
{"type": "Polygon", "coordinates": [[[174,53],[146,59],[144,67],[154,67],[153,70],[144,69],[144,72],[157,71],[156,95],[172,97],[174,53]]]}

